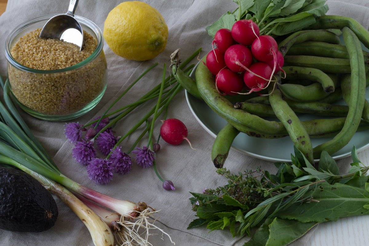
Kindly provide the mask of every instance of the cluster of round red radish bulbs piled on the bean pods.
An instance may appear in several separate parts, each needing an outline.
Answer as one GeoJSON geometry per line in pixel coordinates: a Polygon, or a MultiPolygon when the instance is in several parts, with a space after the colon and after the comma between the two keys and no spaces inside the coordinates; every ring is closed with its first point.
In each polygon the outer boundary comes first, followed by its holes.
{"type": "Polygon", "coordinates": [[[244,88],[248,90],[245,94],[258,92],[268,87],[273,74],[283,71],[277,42],[269,35],[259,35],[252,20],[239,20],[231,30],[218,30],[212,46],[206,66],[216,76],[221,95],[235,95],[244,88]]]}

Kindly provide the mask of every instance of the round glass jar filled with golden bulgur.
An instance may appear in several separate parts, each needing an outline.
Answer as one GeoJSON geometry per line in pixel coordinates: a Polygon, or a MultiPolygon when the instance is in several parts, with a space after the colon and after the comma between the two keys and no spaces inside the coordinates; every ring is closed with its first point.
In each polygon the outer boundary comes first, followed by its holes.
{"type": "Polygon", "coordinates": [[[107,85],[101,30],[92,21],[80,22],[85,44],[39,39],[41,28],[54,15],[24,22],[7,37],[8,80],[15,101],[28,114],[48,121],[66,121],[91,110],[107,85]]]}

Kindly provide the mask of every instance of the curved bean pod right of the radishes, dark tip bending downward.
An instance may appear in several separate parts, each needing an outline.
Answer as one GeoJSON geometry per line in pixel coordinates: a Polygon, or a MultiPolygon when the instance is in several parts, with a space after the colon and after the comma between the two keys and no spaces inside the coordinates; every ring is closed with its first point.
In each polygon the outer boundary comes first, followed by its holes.
{"type": "Polygon", "coordinates": [[[316,68],[284,66],[283,70],[289,79],[308,79],[321,83],[327,93],[332,93],[336,86],[330,76],[316,68]]]}

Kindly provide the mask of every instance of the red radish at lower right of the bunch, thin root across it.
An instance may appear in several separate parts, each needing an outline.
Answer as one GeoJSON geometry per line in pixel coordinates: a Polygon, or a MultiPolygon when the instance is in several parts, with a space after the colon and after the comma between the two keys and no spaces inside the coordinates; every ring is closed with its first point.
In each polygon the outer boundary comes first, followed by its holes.
{"type": "Polygon", "coordinates": [[[269,85],[273,74],[272,68],[265,62],[256,62],[249,67],[251,72],[246,71],[244,82],[251,91],[260,91],[269,85]]]}

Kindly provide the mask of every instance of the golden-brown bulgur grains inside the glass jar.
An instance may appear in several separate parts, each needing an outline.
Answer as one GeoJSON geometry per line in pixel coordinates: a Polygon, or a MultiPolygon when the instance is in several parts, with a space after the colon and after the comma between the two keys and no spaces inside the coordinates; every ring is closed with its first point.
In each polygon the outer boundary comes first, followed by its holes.
{"type": "MultiPolygon", "coordinates": [[[[82,51],[77,45],[58,39],[40,39],[40,32],[41,28],[28,32],[11,50],[17,62],[31,69],[70,67],[85,60],[97,47],[96,39],[85,31],[82,51]]],[[[8,80],[14,96],[21,104],[45,115],[78,112],[105,89],[106,76],[103,51],[86,65],[67,72],[32,73],[8,65],[8,80]]]]}

